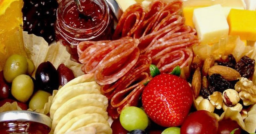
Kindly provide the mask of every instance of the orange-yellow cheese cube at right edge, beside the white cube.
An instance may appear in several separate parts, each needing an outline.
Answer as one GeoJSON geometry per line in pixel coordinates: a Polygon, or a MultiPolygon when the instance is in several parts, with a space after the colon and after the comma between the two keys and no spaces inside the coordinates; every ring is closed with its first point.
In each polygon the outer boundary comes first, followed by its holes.
{"type": "Polygon", "coordinates": [[[227,20],[229,35],[239,35],[241,40],[256,40],[255,11],[231,9],[227,20]]]}

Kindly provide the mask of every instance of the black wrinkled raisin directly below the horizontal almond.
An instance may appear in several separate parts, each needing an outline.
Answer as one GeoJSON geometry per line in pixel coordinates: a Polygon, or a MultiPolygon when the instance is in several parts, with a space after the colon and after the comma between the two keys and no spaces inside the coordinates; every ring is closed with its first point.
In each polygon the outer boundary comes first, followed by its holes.
{"type": "Polygon", "coordinates": [[[233,85],[227,81],[226,79],[222,78],[220,74],[213,74],[209,77],[209,83],[214,91],[223,92],[226,89],[233,88],[233,85]]]}

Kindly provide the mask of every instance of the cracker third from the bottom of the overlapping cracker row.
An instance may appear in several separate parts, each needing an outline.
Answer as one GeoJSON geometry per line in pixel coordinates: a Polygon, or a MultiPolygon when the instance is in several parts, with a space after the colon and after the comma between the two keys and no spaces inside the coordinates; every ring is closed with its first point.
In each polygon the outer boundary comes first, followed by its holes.
{"type": "MultiPolygon", "coordinates": [[[[69,120],[67,123],[65,123],[60,129],[55,129],[54,130],[54,134],[63,134],[65,132],[67,132],[67,130],[73,126],[77,121],[83,119],[84,122],[83,124],[90,124],[90,123],[96,123],[96,122],[101,122],[101,123],[106,123],[106,119],[104,119],[104,117],[100,114],[82,114],[82,115],[79,115],[79,116],[76,116],[74,118],[72,118],[71,120],[69,120]]],[[[76,124],[77,125],[77,124],[76,124]]],[[[74,128],[74,126],[73,126],[74,128]]],[[[78,128],[77,128],[78,129],[78,128]]],[[[76,129],[75,129],[76,130],[76,129]]],[[[69,131],[70,132],[70,131],[69,131]]]]}

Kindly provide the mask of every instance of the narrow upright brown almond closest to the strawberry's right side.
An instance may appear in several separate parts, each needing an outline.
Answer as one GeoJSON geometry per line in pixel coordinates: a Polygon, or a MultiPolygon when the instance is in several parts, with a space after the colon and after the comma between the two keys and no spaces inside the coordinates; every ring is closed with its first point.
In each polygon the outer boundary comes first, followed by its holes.
{"type": "Polygon", "coordinates": [[[199,68],[196,69],[193,75],[191,86],[192,86],[194,97],[196,99],[201,90],[201,72],[199,68]]]}

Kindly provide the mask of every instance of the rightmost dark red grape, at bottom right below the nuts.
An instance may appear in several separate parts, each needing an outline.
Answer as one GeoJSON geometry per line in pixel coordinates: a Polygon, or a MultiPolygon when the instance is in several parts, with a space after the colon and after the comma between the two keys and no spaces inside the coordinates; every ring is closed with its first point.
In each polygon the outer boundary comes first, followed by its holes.
{"type": "Polygon", "coordinates": [[[237,124],[236,121],[230,119],[219,121],[218,134],[230,134],[231,131],[237,129],[234,134],[241,134],[241,127],[237,124]]]}

